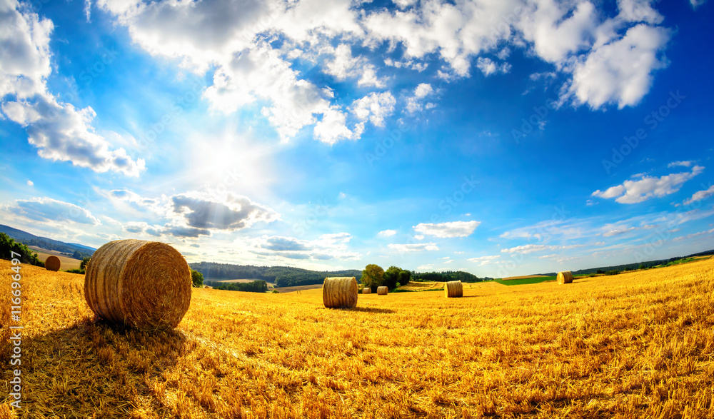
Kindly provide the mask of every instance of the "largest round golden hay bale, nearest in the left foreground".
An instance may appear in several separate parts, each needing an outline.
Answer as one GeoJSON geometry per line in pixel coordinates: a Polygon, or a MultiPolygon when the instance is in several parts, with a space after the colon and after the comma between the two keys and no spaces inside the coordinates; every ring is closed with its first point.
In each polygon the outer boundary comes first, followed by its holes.
{"type": "Polygon", "coordinates": [[[175,328],[191,303],[191,269],[166,243],[117,240],[94,252],[84,298],[99,317],[135,328],[175,328]]]}

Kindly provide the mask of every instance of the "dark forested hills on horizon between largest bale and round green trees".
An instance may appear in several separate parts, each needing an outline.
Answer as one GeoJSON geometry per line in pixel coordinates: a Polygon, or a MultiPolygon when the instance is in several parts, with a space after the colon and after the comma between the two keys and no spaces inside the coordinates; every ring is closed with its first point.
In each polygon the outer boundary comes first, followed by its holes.
{"type": "Polygon", "coordinates": [[[328,276],[354,276],[359,280],[362,271],[309,271],[291,266],[252,266],[229,263],[199,262],[189,263],[191,269],[203,273],[206,281],[218,279],[262,279],[274,283],[276,287],[305,286],[323,283],[328,276]]]}

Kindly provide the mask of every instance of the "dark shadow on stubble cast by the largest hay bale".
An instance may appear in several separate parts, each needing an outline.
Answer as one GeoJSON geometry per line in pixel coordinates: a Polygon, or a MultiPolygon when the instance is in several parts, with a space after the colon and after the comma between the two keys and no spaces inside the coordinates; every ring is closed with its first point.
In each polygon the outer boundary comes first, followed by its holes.
{"type": "Polygon", "coordinates": [[[23,403],[34,417],[129,417],[193,346],[176,330],[132,330],[85,320],[22,340],[23,403]],[[102,400],[98,405],[97,400],[102,400]]]}

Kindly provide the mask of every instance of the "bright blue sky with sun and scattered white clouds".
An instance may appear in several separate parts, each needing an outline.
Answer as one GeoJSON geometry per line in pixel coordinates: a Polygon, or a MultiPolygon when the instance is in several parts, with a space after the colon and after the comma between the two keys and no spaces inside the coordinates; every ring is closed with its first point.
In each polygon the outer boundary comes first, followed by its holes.
{"type": "Polygon", "coordinates": [[[506,277],[714,248],[699,0],[0,0],[0,222],[506,277]]]}

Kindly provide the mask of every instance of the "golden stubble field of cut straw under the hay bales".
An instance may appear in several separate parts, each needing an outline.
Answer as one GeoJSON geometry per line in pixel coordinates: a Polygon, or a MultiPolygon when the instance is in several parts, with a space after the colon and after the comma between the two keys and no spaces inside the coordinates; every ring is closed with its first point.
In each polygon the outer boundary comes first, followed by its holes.
{"type": "MultiPolygon", "coordinates": [[[[7,385],[9,278],[0,261],[7,385]]],[[[359,296],[195,289],[173,332],[92,323],[83,276],[23,266],[24,409],[0,418],[713,418],[714,260],[359,296]]]]}

